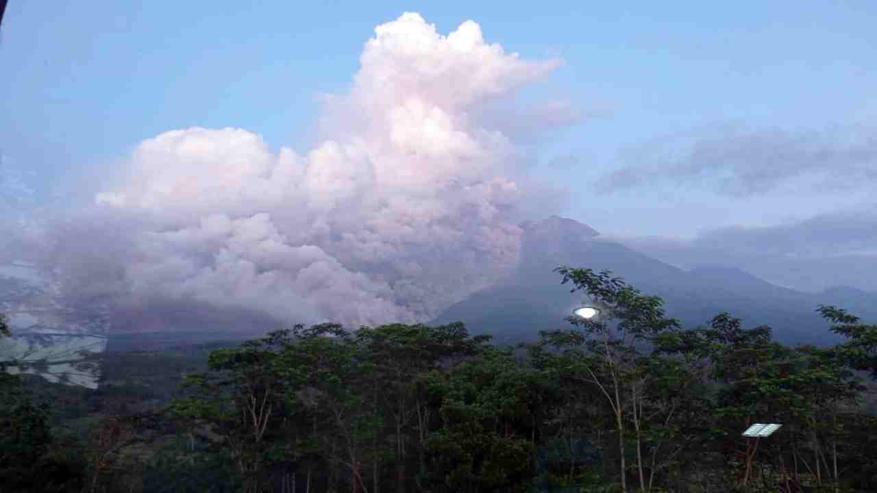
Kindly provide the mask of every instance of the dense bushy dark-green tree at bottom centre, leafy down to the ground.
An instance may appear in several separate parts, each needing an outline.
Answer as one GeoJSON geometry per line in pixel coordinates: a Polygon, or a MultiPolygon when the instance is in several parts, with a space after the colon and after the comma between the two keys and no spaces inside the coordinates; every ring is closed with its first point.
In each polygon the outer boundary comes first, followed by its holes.
{"type": "Polygon", "coordinates": [[[441,418],[426,440],[426,490],[527,491],[535,476],[538,375],[518,365],[510,350],[489,350],[451,372],[432,371],[426,386],[441,418]]]}

